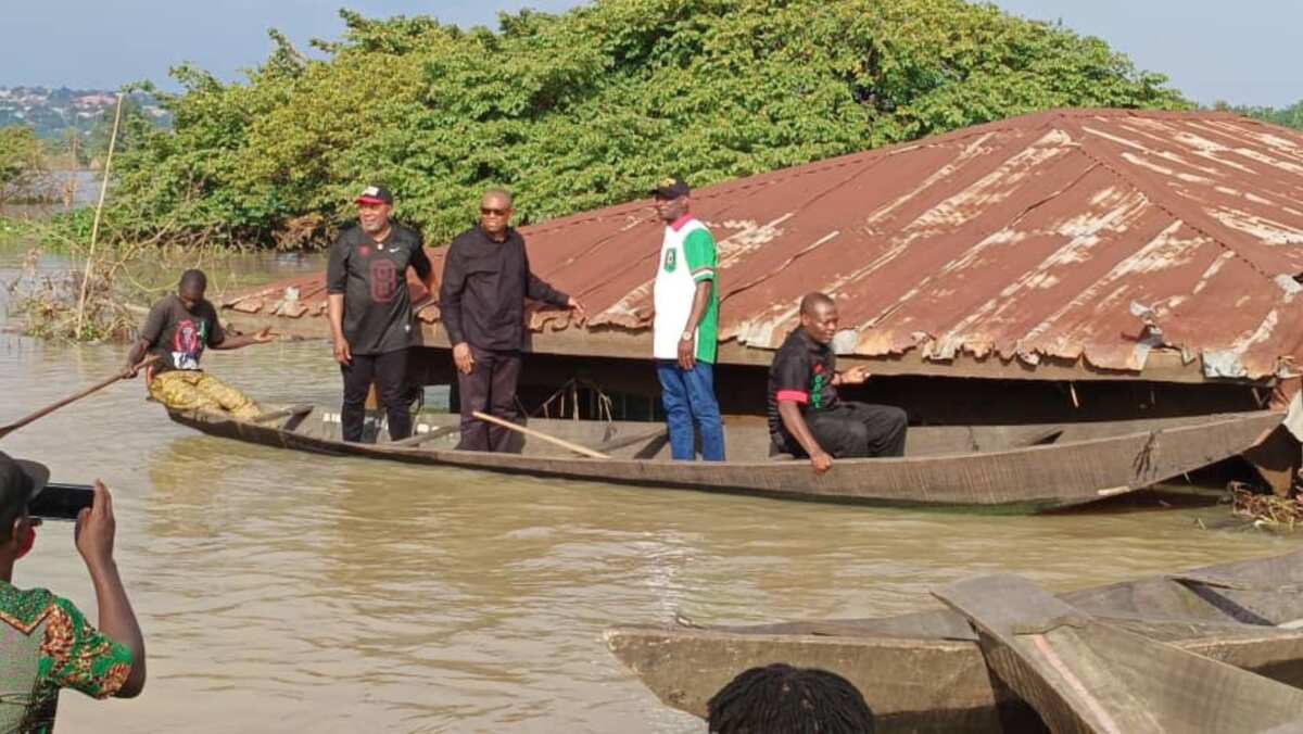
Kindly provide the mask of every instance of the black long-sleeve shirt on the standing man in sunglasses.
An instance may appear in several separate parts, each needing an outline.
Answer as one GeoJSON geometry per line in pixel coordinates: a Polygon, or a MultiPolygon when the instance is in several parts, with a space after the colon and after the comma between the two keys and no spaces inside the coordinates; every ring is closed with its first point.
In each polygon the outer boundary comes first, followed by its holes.
{"type": "Polygon", "coordinates": [[[439,312],[448,342],[512,351],[525,344],[525,297],[564,308],[569,296],[529,270],[525,239],[507,229],[495,242],[476,227],[448,246],[439,312]]]}

